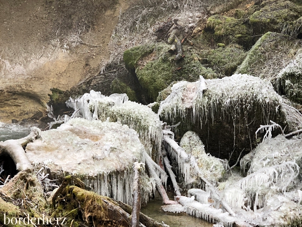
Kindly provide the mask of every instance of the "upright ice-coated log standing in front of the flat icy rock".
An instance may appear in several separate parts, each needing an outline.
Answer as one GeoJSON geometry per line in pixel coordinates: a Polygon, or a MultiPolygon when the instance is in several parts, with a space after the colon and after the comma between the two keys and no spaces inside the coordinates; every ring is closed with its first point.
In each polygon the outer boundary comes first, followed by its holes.
{"type": "Polygon", "coordinates": [[[133,165],[134,169],[134,183],[133,183],[133,209],[132,209],[132,216],[131,216],[131,227],[137,227],[139,224],[139,213],[140,213],[140,173],[144,171],[144,164],[134,162],[133,165]]]}

